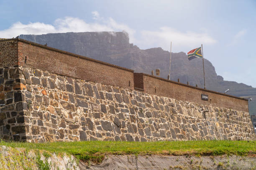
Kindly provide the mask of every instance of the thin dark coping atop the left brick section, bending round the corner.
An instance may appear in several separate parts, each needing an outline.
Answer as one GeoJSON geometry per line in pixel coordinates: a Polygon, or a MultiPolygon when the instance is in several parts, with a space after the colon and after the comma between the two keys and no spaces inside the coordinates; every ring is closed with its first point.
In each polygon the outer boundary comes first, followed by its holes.
{"type": "Polygon", "coordinates": [[[53,48],[53,47],[47,47],[45,45],[41,45],[41,44],[38,44],[38,43],[35,43],[35,42],[23,40],[23,39],[20,39],[20,38],[12,38],[12,39],[0,40],[0,42],[4,42],[4,41],[23,42],[23,43],[26,43],[26,44],[29,44],[29,45],[33,45],[33,46],[36,46],[36,47],[41,47],[41,48],[44,48],[44,49],[47,49],[47,50],[51,50],[51,51],[54,51],[54,52],[59,52],[59,53],[62,53],[62,54],[71,55],[73,57],[79,57],[79,58],[82,58],[84,60],[90,60],[90,61],[97,62],[97,63],[103,64],[103,65],[108,65],[110,67],[115,67],[115,68],[118,68],[118,69],[121,69],[121,70],[126,70],[126,71],[129,71],[129,72],[134,72],[134,70],[131,70],[131,69],[128,69],[128,68],[125,68],[125,67],[120,67],[118,65],[113,65],[113,64],[110,64],[108,62],[103,62],[103,61],[95,60],[95,59],[92,59],[90,57],[85,57],[85,56],[82,56],[82,55],[77,55],[77,54],[74,54],[72,52],[67,52],[67,51],[59,50],[59,49],[56,49],[56,48],[53,48]]]}

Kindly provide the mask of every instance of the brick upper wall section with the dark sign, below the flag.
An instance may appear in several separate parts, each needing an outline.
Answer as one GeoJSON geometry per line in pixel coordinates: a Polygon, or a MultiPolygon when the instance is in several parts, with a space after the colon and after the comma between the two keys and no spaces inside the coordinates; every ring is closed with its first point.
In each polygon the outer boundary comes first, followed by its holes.
{"type": "Polygon", "coordinates": [[[248,112],[247,100],[184,85],[152,75],[143,74],[143,87],[144,92],[149,94],[248,112]],[[201,100],[201,94],[208,95],[209,100],[201,100]]]}

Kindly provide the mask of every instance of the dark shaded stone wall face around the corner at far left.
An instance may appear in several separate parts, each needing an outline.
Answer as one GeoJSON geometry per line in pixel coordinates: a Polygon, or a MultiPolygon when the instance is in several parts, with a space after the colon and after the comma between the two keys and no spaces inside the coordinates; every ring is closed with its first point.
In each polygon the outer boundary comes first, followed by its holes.
{"type": "Polygon", "coordinates": [[[26,106],[23,91],[26,89],[26,82],[20,80],[20,73],[18,67],[0,67],[1,139],[26,140],[23,116],[23,108],[26,106]]]}

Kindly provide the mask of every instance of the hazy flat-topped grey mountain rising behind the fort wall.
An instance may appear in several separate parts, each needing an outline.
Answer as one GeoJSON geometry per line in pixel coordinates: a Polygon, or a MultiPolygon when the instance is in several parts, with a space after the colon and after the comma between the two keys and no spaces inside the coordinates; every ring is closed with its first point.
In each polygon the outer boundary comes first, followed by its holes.
{"type": "MultiPolygon", "coordinates": [[[[170,52],[161,47],[141,50],[129,43],[126,32],[67,32],[44,35],[20,35],[20,38],[39,44],[46,44],[60,50],[109,62],[135,72],[151,74],[151,70],[161,69],[160,77],[167,78],[169,72],[170,52]]],[[[184,52],[172,53],[170,79],[204,87],[202,60],[189,61],[184,52]]],[[[225,81],[217,75],[212,63],[205,59],[206,87],[209,90],[224,92],[234,96],[250,96],[250,114],[256,114],[256,88],[243,83],[225,81]]]]}

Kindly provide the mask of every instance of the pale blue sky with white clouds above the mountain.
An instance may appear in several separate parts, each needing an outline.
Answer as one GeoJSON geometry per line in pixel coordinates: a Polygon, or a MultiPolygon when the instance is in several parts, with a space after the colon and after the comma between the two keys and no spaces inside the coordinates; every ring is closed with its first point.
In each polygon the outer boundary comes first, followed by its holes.
{"type": "Polygon", "coordinates": [[[256,0],[0,0],[0,9],[1,38],[125,30],[141,49],[203,44],[224,80],[256,87],[256,0]]]}

